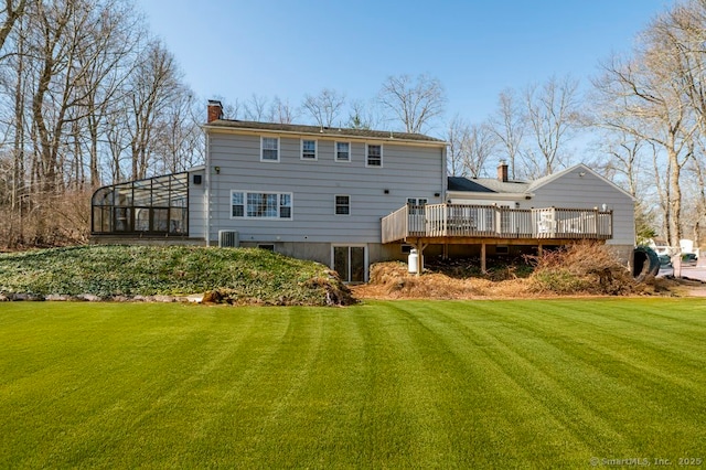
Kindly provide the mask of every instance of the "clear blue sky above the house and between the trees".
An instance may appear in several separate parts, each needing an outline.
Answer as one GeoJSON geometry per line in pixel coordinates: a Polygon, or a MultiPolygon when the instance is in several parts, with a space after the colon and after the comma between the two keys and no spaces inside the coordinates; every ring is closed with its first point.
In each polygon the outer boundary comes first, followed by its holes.
{"type": "Polygon", "coordinates": [[[256,94],[298,105],[324,87],[367,100],[389,75],[426,73],[446,88],[447,118],[458,113],[480,122],[507,87],[567,74],[588,87],[599,61],[629,52],[674,0],[137,4],[204,100],[256,94]]]}

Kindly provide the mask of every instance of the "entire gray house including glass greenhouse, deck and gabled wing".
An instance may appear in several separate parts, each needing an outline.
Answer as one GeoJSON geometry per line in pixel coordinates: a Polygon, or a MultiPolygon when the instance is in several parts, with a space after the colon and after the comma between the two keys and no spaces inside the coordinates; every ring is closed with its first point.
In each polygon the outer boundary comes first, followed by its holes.
{"type": "Polygon", "coordinates": [[[525,183],[507,181],[506,165],[498,180],[447,179],[436,138],[222,114],[208,103],[203,167],[98,189],[94,242],[260,247],[352,282],[411,246],[484,255],[595,238],[627,254],[634,244],[632,199],[585,165],[525,183]]]}

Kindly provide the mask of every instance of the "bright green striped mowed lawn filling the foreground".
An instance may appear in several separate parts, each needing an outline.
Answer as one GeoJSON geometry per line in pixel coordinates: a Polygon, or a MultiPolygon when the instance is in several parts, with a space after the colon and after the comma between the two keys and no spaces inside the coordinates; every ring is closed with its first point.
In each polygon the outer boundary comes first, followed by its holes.
{"type": "Polygon", "coordinates": [[[6,302],[0,468],[703,466],[705,339],[698,299],[6,302]]]}

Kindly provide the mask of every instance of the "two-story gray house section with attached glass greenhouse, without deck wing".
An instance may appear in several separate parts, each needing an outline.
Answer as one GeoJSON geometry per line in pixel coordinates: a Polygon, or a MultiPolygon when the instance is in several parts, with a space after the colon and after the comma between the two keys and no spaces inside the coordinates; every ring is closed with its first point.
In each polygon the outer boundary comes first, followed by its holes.
{"type": "Polygon", "coordinates": [[[371,263],[402,256],[381,243],[381,217],[443,201],[440,139],[227,120],[218,102],[203,129],[204,167],[96,191],[95,239],[261,247],[365,281],[371,263]]]}

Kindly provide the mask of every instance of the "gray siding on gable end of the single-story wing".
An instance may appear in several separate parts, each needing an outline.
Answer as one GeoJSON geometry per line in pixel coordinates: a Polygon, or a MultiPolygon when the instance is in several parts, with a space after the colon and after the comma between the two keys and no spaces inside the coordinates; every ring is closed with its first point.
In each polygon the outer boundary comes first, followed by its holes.
{"type": "Polygon", "coordinates": [[[635,243],[634,202],[622,191],[592,173],[576,168],[546,183],[525,201],[533,207],[601,209],[613,211],[613,238],[610,245],[633,246],[635,243]],[[581,177],[581,173],[585,173],[581,177]]]}

